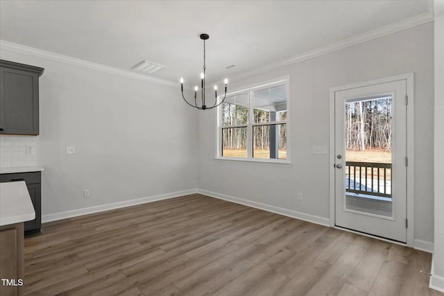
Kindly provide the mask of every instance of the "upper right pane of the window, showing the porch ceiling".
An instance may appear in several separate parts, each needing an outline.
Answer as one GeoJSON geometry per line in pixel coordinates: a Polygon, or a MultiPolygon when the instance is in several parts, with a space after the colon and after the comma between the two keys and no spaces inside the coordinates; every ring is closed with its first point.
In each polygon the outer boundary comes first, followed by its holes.
{"type": "Polygon", "coordinates": [[[253,92],[254,122],[287,120],[287,85],[253,92]]]}

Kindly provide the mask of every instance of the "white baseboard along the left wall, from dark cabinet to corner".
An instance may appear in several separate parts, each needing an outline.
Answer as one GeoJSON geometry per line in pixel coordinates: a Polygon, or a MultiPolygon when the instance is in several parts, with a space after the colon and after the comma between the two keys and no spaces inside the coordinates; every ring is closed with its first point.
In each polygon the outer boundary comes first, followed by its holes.
{"type": "Polygon", "coordinates": [[[99,211],[108,211],[110,209],[119,209],[122,207],[130,207],[130,206],[134,206],[136,204],[144,204],[147,202],[156,202],[157,200],[167,200],[169,198],[177,198],[182,195],[188,195],[188,194],[193,194],[193,193],[197,193],[197,192],[198,192],[198,189],[190,189],[190,190],[183,190],[183,191],[178,191],[178,192],[173,192],[173,193],[166,193],[166,194],[161,194],[161,195],[149,196],[147,198],[137,198],[135,200],[125,200],[122,202],[113,202],[111,204],[101,204],[99,206],[87,207],[87,208],[83,208],[83,209],[62,211],[60,213],[42,215],[42,223],[51,222],[51,221],[55,221],[55,220],[62,220],[62,219],[66,219],[66,218],[76,217],[76,216],[82,216],[82,215],[86,215],[86,214],[93,214],[93,213],[97,213],[99,211]]]}

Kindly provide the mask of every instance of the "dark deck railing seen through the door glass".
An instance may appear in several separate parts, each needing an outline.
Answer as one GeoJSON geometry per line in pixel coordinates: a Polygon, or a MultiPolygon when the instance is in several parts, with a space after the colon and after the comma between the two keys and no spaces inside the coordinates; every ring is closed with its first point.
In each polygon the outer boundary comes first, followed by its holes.
{"type": "Polygon", "coordinates": [[[391,164],[345,162],[345,191],[391,198],[391,164]]]}

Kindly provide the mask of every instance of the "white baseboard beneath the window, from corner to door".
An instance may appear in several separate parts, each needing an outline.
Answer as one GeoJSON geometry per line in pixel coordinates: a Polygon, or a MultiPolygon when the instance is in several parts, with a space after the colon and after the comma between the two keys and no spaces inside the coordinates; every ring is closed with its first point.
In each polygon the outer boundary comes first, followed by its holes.
{"type": "Polygon", "coordinates": [[[310,215],[310,214],[304,214],[304,213],[300,213],[299,211],[292,211],[289,209],[283,209],[280,207],[272,206],[270,204],[263,204],[261,202],[252,202],[251,200],[244,200],[242,198],[234,198],[233,196],[230,196],[230,195],[225,195],[225,194],[207,191],[207,190],[203,190],[203,189],[198,189],[198,193],[211,196],[212,198],[219,198],[220,200],[227,200],[228,202],[235,202],[237,204],[244,204],[248,207],[262,209],[264,211],[271,211],[272,213],[275,213],[275,214],[280,214],[283,216],[288,216],[291,218],[305,220],[305,221],[308,221],[311,223],[321,224],[321,225],[330,227],[330,219],[329,218],[314,216],[314,215],[310,215]]]}

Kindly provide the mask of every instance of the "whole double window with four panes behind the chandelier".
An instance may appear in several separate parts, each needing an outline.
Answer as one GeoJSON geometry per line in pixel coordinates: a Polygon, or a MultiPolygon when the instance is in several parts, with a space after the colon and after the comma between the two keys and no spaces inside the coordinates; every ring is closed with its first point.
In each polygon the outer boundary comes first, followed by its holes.
{"type": "Polygon", "coordinates": [[[227,95],[219,106],[219,157],[286,162],[287,80],[227,95]]]}

